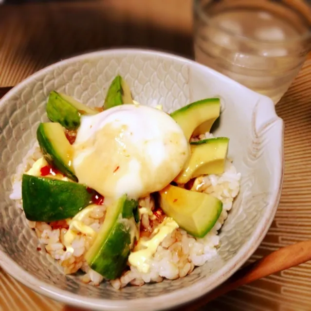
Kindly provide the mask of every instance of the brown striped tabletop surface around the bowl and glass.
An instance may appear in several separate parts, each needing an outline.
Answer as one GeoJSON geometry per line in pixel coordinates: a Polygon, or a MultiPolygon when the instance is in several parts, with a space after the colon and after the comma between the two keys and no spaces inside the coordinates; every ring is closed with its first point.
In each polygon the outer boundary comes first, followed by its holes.
{"type": "MultiPolygon", "coordinates": [[[[0,96],[57,60],[111,47],[192,54],[191,0],[98,0],[0,5],[0,96]]],[[[285,176],[273,224],[250,261],[311,238],[311,57],[277,104],[285,176]]],[[[244,286],[202,310],[311,310],[311,263],[244,286]]],[[[0,310],[60,311],[0,270],[0,310]]],[[[69,309],[67,309],[69,310],[69,309]]]]}

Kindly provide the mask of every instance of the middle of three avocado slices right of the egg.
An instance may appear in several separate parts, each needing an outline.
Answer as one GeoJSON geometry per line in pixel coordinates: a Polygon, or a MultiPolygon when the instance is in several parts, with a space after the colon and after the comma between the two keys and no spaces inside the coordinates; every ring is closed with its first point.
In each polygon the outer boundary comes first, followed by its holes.
{"type": "Polygon", "coordinates": [[[229,138],[217,137],[190,143],[191,156],[175,178],[187,183],[191,178],[207,174],[222,174],[228,154],[229,138]]]}

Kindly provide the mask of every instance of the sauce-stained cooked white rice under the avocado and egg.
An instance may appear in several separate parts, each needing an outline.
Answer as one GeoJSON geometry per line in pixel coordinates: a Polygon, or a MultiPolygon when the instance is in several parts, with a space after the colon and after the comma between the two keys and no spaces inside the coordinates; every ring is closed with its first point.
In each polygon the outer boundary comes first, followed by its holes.
{"type": "MultiPolygon", "coordinates": [[[[211,137],[213,137],[212,134],[206,133],[193,140],[211,137]]],[[[22,174],[28,171],[35,161],[41,157],[42,153],[36,143],[27,153],[22,164],[18,165],[17,174],[12,180],[13,191],[10,198],[17,201],[19,208],[22,208],[22,174]]],[[[147,261],[150,266],[148,273],[141,273],[128,263],[128,269],[123,275],[118,279],[110,280],[110,284],[115,289],[120,289],[128,284],[140,286],[148,282],[161,282],[164,278],[176,279],[190,274],[195,266],[201,266],[210,260],[217,254],[217,248],[220,245],[218,231],[232,208],[234,198],[238,195],[239,181],[240,173],[237,172],[235,166],[229,160],[227,160],[223,174],[198,177],[193,184],[192,190],[211,194],[223,203],[220,218],[212,230],[204,238],[194,238],[180,228],[174,230],[170,236],[162,241],[156,253],[147,261]]],[[[150,223],[155,220],[152,211],[156,209],[153,198],[148,196],[140,199],[139,209],[141,211],[142,226],[146,232],[150,232],[152,230],[150,223]]],[[[82,222],[98,232],[104,221],[105,212],[105,203],[104,205],[98,205],[82,222]]],[[[82,282],[99,285],[103,281],[104,278],[93,271],[84,260],[84,254],[92,243],[90,236],[79,233],[72,243],[74,251],[70,253],[66,252],[64,245],[64,235],[67,229],[53,229],[51,225],[45,222],[28,221],[28,224],[36,231],[39,241],[45,246],[46,251],[63,267],[65,274],[73,274],[81,269],[85,272],[81,277],[82,282]]]]}

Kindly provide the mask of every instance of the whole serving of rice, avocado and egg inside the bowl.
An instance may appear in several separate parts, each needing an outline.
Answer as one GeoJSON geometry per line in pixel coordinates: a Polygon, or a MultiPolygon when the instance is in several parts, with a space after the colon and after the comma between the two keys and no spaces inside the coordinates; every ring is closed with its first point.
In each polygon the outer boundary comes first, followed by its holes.
{"type": "Polygon", "coordinates": [[[219,98],[168,114],[117,76],[103,107],[52,91],[46,111],[11,199],[65,274],[120,289],[184,277],[217,254],[240,181],[229,139],[210,133],[219,98]]]}

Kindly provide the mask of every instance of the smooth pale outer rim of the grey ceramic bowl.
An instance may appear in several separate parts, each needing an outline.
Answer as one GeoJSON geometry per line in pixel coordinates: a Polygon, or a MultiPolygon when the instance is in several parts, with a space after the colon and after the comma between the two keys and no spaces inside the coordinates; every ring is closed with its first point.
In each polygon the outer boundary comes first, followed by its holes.
{"type": "Polygon", "coordinates": [[[35,80],[38,76],[41,76],[44,73],[48,73],[50,70],[53,70],[66,63],[72,62],[74,63],[76,61],[84,60],[86,58],[91,59],[92,57],[98,56],[105,57],[111,54],[115,56],[124,54],[127,55],[144,54],[155,57],[160,56],[164,57],[165,59],[187,63],[189,66],[197,67],[202,71],[209,71],[214,75],[219,76],[221,80],[227,80],[229,83],[234,84],[237,88],[241,88],[243,91],[247,90],[248,92],[253,92],[259,97],[266,98],[266,101],[268,101],[270,105],[273,106],[274,118],[282,125],[281,130],[279,130],[278,132],[281,152],[277,156],[279,157],[278,159],[280,161],[279,163],[282,163],[281,170],[277,172],[276,176],[276,181],[278,183],[278,191],[276,193],[272,193],[272,200],[271,202],[269,202],[266,212],[263,214],[262,219],[260,220],[258,226],[253,232],[253,236],[247,242],[244,243],[244,245],[239,249],[239,251],[235,256],[229,259],[228,262],[223,267],[221,267],[211,277],[209,277],[208,284],[206,280],[202,279],[200,281],[197,281],[193,285],[187,286],[182,289],[178,289],[172,293],[160,294],[155,297],[136,298],[132,300],[110,300],[110,299],[89,298],[86,296],[80,296],[79,294],[61,290],[57,288],[57,286],[55,285],[45,283],[44,281],[41,281],[37,277],[25,271],[13,259],[11,259],[10,256],[6,255],[1,250],[0,250],[0,266],[6,273],[10,274],[19,282],[21,282],[23,285],[27,286],[33,291],[45,295],[54,300],[60,301],[66,305],[72,305],[80,308],[91,308],[93,310],[133,310],[133,311],[165,310],[168,308],[178,307],[183,304],[187,304],[190,301],[200,298],[204,294],[210,292],[211,290],[219,286],[222,282],[224,282],[227,278],[229,278],[232,274],[234,274],[238,270],[238,268],[240,268],[245,263],[245,261],[256,251],[262,239],[268,232],[277,210],[283,183],[283,175],[284,175],[283,120],[276,115],[274,103],[269,97],[258,94],[255,91],[246,88],[245,86],[223,75],[222,73],[218,73],[209,67],[201,65],[196,61],[185,58],[183,56],[178,56],[157,50],[137,49],[137,48],[105,49],[69,57],[61,61],[58,61],[52,65],[49,65],[37,71],[36,73],[33,73],[25,80],[20,82],[17,86],[8,91],[0,100],[0,108],[11,96],[13,96],[19,90],[23,89],[30,81],[35,80]]]}

